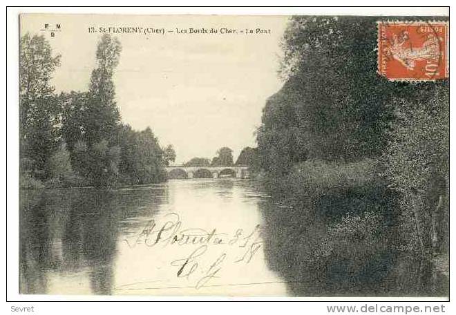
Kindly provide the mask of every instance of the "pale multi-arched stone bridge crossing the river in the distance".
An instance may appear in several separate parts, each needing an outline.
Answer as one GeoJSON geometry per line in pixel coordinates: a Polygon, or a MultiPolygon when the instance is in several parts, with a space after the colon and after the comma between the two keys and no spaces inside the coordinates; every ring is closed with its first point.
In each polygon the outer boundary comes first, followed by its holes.
{"type": "Polygon", "coordinates": [[[247,166],[180,166],[173,165],[164,168],[168,178],[249,178],[247,166]],[[196,177],[195,177],[196,175],[196,177]]]}

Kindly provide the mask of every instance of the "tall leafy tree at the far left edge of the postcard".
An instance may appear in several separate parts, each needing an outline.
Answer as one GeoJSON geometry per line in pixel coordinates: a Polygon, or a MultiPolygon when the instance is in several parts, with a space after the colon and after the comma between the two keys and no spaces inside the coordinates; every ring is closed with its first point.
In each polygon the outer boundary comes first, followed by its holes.
{"type": "Polygon", "coordinates": [[[58,113],[52,74],[60,56],[53,56],[43,36],[23,35],[19,44],[20,158],[33,164],[35,175],[46,173],[46,162],[58,146],[58,113]]]}

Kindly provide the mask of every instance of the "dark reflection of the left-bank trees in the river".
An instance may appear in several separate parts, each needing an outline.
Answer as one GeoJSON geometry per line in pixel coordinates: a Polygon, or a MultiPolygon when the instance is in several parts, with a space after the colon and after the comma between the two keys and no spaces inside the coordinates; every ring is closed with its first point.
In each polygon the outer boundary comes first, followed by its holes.
{"type": "Polygon", "coordinates": [[[159,185],[21,192],[20,292],[46,294],[50,272],[65,276],[88,271],[92,292],[111,294],[119,234],[142,224],[123,219],[149,218],[165,198],[166,189],[159,185]]]}

